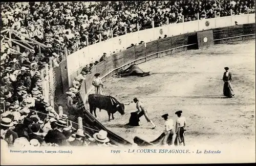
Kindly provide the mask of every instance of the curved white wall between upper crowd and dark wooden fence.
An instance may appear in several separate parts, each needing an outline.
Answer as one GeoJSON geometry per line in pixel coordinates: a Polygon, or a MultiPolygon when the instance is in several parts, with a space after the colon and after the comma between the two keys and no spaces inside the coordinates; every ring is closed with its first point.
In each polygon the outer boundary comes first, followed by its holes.
{"type": "Polygon", "coordinates": [[[140,41],[148,43],[159,39],[159,37],[163,38],[164,35],[170,37],[191,32],[215,29],[218,27],[232,26],[236,25],[235,21],[238,24],[254,23],[255,15],[232,15],[227,17],[169,24],[152,29],[136,31],[130,34],[111,38],[107,41],[89,45],[70,54],[67,57],[69,85],[71,86],[71,81],[77,75],[77,71],[80,72],[81,69],[86,65],[98,61],[103,55],[103,52],[106,52],[107,54],[113,54],[125,50],[131,44],[138,44],[140,41]]]}

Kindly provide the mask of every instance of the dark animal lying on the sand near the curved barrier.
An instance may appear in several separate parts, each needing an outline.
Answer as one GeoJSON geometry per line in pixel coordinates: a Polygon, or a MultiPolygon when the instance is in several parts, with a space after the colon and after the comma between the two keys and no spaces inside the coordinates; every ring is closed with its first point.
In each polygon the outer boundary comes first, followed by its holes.
{"type": "Polygon", "coordinates": [[[139,76],[148,76],[151,75],[151,72],[144,72],[143,70],[141,70],[138,65],[134,64],[129,66],[127,69],[125,70],[120,70],[118,72],[118,76],[119,77],[124,77],[124,76],[130,76],[130,75],[139,75],[139,76]]]}

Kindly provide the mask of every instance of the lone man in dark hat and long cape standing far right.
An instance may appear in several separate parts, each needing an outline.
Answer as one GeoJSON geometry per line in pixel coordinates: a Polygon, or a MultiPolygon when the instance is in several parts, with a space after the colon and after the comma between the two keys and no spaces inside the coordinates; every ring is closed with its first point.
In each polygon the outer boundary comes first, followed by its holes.
{"type": "Polygon", "coordinates": [[[226,71],[224,72],[223,78],[222,78],[224,81],[223,95],[231,98],[234,96],[233,88],[231,85],[231,81],[233,80],[233,75],[232,75],[232,73],[229,72],[228,67],[225,67],[224,69],[226,71]]]}

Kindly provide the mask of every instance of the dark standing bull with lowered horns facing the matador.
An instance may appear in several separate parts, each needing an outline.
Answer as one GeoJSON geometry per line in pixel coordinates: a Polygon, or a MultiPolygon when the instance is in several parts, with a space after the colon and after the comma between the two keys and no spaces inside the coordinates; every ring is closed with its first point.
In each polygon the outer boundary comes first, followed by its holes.
{"type": "Polygon", "coordinates": [[[96,108],[104,109],[108,112],[109,115],[109,121],[110,121],[110,116],[112,114],[112,119],[114,118],[114,114],[118,111],[121,115],[124,115],[124,105],[129,105],[128,104],[123,104],[117,101],[112,96],[104,96],[100,94],[90,94],[88,95],[88,102],[90,106],[90,113],[97,118],[96,115],[96,108]]]}

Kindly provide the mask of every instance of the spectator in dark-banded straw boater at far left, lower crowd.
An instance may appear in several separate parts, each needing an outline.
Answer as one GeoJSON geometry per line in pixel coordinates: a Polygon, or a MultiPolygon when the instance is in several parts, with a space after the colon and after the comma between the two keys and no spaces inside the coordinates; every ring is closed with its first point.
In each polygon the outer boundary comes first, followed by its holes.
{"type": "Polygon", "coordinates": [[[18,134],[10,129],[12,126],[13,122],[10,118],[1,119],[1,139],[5,140],[9,145],[12,145],[14,140],[18,138],[18,134]]]}

